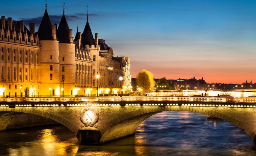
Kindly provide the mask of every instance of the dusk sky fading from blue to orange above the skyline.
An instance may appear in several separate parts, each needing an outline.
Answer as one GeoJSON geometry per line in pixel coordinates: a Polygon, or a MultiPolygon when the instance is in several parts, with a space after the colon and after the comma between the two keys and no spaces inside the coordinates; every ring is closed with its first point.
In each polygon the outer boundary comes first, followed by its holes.
{"type": "MultiPolygon", "coordinates": [[[[256,0],[48,0],[52,24],[65,16],[73,35],[89,23],[115,56],[128,56],[132,77],[195,76],[207,83],[256,83],[256,0]]],[[[0,15],[38,25],[45,1],[1,2],[0,15]],[[32,3],[31,3],[32,2],[32,3]]]]}

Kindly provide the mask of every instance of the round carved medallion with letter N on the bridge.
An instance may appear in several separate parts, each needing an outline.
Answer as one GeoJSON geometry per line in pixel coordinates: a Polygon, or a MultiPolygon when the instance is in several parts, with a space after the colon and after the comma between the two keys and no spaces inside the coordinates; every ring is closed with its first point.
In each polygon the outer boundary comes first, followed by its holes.
{"type": "Polygon", "coordinates": [[[99,120],[99,113],[92,109],[85,108],[80,112],[80,121],[84,124],[82,127],[95,127],[99,120]]]}

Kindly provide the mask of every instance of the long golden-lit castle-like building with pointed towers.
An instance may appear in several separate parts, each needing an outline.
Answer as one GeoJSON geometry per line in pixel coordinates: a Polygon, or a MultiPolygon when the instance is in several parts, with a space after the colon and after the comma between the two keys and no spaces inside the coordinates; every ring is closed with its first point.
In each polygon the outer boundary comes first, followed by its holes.
{"type": "Polygon", "coordinates": [[[72,37],[64,15],[51,24],[45,8],[41,24],[0,19],[0,96],[74,96],[131,91],[130,59],[114,57],[88,22],[72,37]],[[120,78],[122,77],[122,78],[120,78]],[[97,88],[98,86],[98,88],[97,88]]]}

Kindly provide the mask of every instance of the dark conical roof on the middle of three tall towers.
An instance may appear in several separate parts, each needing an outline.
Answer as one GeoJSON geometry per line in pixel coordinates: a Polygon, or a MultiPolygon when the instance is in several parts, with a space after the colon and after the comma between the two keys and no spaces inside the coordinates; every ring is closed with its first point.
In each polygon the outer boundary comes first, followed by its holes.
{"type": "Polygon", "coordinates": [[[69,25],[67,24],[67,20],[65,18],[64,12],[56,33],[57,33],[57,38],[59,40],[59,43],[70,43],[69,25]]]}

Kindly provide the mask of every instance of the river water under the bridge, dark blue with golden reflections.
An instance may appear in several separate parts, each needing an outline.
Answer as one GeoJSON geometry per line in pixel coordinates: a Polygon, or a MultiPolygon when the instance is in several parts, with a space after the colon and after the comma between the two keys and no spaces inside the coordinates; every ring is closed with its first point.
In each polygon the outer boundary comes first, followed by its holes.
{"type": "Polygon", "coordinates": [[[135,135],[101,146],[78,146],[61,125],[0,132],[0,155],[11,156],[256,155],[251,138],[220,119],[184,111],[163,111],[146,119],[135,135]]]}

